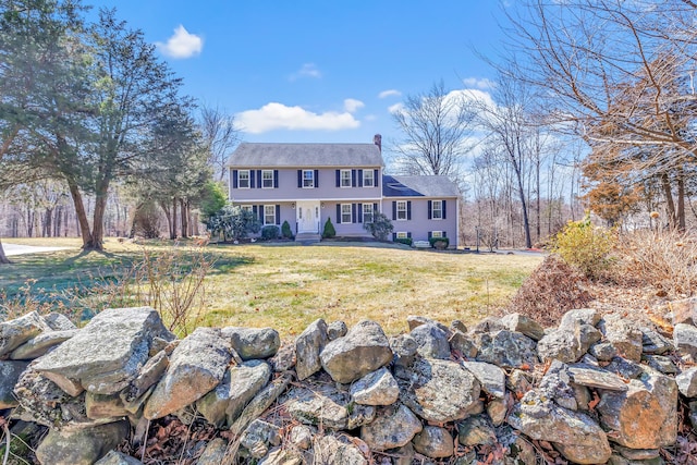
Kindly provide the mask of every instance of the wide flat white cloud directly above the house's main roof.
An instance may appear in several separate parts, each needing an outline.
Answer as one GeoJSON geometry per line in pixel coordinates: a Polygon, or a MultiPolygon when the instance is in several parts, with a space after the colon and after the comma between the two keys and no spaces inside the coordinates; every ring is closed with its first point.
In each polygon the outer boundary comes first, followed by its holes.
{"type": "Polygon", "coordinates": [[[258,110],[246,110],[235,115],[241,131],[262,134],[274,130],[288,131],[340,131],[360,126],[360,121],[348,112],[327,111],[315,113],[302,107],[288,107],[270,102],[258,110]]]}

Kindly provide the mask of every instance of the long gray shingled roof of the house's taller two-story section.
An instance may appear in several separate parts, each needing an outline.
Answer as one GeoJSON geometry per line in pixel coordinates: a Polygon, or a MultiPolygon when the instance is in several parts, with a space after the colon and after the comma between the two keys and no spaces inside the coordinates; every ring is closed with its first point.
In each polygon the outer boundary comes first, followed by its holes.
{"type": "Polygon", "coordinates": [[[382,167],[375,144],[261,144],[242,143],[228,164],[244,168],[382,167]]]}

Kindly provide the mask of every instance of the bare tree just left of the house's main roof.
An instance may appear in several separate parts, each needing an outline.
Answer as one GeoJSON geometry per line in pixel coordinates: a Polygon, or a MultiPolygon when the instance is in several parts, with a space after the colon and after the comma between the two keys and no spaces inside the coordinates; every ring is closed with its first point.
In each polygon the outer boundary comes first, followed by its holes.
{"type": "Polygon", "coordinates": [[[232,149],[240,142],[240,131],[235,129],[233,115],[218,107],[201,107],[200,131],[204,146],[208,150],[208,163],[213,169],[213,179],[222,182],[225,176],[225,164],[232,149]]]}

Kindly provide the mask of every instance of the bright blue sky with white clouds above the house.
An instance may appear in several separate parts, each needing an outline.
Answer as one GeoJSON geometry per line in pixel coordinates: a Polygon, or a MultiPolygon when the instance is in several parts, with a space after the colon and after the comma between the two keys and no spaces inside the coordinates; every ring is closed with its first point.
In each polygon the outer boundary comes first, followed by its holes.
{"type": "Polygon", "coordinates": [[[184,91],[235,114],[246,142],[399,137],[390,108],[443,79],[486,90],[474,49],[501,47],[496,0],[100,0],[140,28],[184,91]]]}

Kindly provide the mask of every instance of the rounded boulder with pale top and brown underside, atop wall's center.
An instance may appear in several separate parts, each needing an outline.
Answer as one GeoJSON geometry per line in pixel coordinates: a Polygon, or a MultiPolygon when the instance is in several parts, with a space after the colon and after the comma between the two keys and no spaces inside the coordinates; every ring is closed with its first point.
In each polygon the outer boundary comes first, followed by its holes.
{"type": "Polygon", "coordinates": [[[320,360],[334,381],[348,383],[389,364],[392,356],[380,325],[363,320],[345,336],[328,343],[320,353],[320,360]]]}

